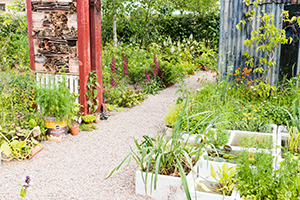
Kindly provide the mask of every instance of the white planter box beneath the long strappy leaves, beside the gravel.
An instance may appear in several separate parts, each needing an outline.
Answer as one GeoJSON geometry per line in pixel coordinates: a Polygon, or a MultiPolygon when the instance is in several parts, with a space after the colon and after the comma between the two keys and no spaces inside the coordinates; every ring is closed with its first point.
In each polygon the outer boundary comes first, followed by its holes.
{"type": "MultiPolygon", "coordinates": [[[[181,177],[173,177],[173,176],[165,176],[158,175],[156,190],[154,190],[154,176],[153,176],[153,184],[152,184],[152,193],[150,193],[151,188],[151,178],[152,173],[148,173],[147,179],[147,193],[145,191],[145,184],[142,179],[142,176],[145,178],[146,173],[141,170],[137,170],[135,173],[135,193],[140,195],[148,195],[152,198],[158,200],[186,200],[186,195],[184,192],[184,188],[182,186],[181,177]]],[[[192,179],[192,173],[187,175],[187,180],[192,179]]],[[[145,180],[145,179],[144,179],[145,180]]]]}

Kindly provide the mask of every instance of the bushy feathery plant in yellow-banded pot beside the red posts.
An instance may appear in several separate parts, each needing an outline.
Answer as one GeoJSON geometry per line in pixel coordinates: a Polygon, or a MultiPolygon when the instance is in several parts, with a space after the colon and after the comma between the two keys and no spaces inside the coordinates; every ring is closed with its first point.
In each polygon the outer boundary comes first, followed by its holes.
{"type": "Polygon", "coordinates": [[[72,113],[74,97],[67,87],[67,82],[40,84],[36,88],[36,102],[45,117],[48,139],[61,138],[67,134],[67,119],[72,113]]]}

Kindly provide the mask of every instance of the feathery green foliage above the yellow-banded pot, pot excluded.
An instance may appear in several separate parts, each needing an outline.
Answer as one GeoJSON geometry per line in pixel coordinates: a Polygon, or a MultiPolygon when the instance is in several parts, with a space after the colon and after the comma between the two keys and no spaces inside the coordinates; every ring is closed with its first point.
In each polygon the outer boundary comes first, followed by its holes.
{"type": "Polygon", "coordinates": [[[36,86],[36,102],[41,107],[41,116],[56,117],[56,120],[67,119],[73,112],[75,101],[66,81],[50,84],[38,84],[36,86]]]}

